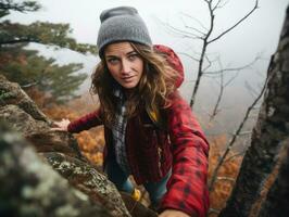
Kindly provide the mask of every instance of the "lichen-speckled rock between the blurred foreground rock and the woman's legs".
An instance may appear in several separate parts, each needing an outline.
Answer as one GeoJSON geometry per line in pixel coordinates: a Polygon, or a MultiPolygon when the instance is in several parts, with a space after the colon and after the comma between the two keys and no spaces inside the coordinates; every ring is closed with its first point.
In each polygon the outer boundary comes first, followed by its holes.
{"type": "Polygon", "coordinates": [[[114,184],[91,165],[55,152],[45,156],[72,186],[100,202],[113,216],[130,216],[114,184]]]}

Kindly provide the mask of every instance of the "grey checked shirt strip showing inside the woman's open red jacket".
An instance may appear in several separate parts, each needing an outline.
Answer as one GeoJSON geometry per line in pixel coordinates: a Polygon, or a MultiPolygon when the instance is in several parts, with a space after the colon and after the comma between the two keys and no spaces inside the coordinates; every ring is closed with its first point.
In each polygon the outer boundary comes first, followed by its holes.
{"type": "Polygon", "coordinates": [[[118,98],[115,124],[112,127],[112,136],[115,151],[115,158],[121,168],[126,173],[130,174],[129,166],[125,150],[125,129],[127,124],[127,118],[125,117],[125,102],[124,95],[121,90],[116,90],[114,94],[118,98]]]}

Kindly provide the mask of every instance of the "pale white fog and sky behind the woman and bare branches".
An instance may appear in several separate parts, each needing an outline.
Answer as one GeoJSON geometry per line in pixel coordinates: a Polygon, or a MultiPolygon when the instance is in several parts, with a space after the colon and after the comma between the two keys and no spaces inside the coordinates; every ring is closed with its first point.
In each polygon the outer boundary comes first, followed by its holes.
{"type": "MultiPolygon", "coordinates": [[[[180,91],[187,100],[190,99],[197,77],[197,62],[181,53],[198,56],[201,52],[201,43],[196,39],[184,38],[173,33],[167,25],[178,29],[186,29],[186,25],[199,29],[202,29],[202,26],[206,27],[209,11],[202,0],[172,2],[165,0],[39,0],[38,2],[42,5],[38,12],[27,14],[12,12],[5,18],[22,24],[30,24],[36,21],[67,23],[73,29],[72,37],[78,42],[92,44],[97,43],[101,11],[120,5],[135,7],[147,23],[153,43],[168,46],[179,53],[185,66],[185,81],[180,91]],[[190,18],[188,15],[194,18],[190,18]]],[[[227,1],[222,9],[216,11],[213,38],[239,21],[254,7],[254,0],[227,1]]],[[[225,80],[236,78],[225,89],[221,112],[212,124],[213,127],[208,125],[208,114],[212,112],[216,102],[219,86],[217,79],[203,78],[193,110],[210,133],[224,130],[233,131],[241,120],[248,105],[261,91],[266,78],[269,58],[277,47],[288,3],[288,0],[260,0],[259,9],[249,18],[209,47],[209,55],[212,59],[218,58],[223,68],[240,67],[260,56],[260,60],[249,68],[240,71],[238,74],[235,72],[225,75],[225,80]],[[252,90],[249,91],[248,87],[252,90]]],[[[98,56],[79,54],[68,49],[56,50],[37,43],[30,43],[28,48],[39,50],[40,54],[51,56],[60,64],[83,63],[81,72],[88,75],[99,62],[98,56]]],[[[219,64],[213,64],[211,69],[219,68],[219,64]]],[[[78,93],[87,92],[89,86],[90,76],[81,85],[78,93]]]]}

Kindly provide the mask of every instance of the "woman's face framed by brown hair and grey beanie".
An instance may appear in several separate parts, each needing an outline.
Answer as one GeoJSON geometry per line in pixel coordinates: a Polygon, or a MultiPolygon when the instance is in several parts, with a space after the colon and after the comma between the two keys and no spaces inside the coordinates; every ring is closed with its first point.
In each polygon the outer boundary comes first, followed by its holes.
{"type": "Polygon", "coordinates": [[[125,89],[135,88],[143,73],[143,60],[129,42],[109,44],[104,60],[112,77],[125,89]]]}

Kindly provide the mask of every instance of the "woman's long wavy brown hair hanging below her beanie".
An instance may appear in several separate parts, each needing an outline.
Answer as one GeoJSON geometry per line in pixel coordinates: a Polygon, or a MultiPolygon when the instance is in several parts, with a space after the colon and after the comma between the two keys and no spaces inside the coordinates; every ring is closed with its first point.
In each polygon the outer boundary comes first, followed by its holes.
{"type": "MultiPolygon", "coordinates": [[[[130,42],[135,51],[143,60],[143,73],[138,86],[131,91],[126,102],[126,115],[133,117],[139,111],[159,113],[161,108],[171,104],[168,95],[175,91],[178,73],[171,67],[165,56],[152,48],[130,42]]],[[[105,52],[105,51],[104,51],[105,52]]],[[[114,95],[116,88],[122,88],[111,76],[104,58],[97,65],[91,75],[90,92],[98,94],[102,118],[106,126],[112,126],[117,112],[117,98],[114,95]]]]}

